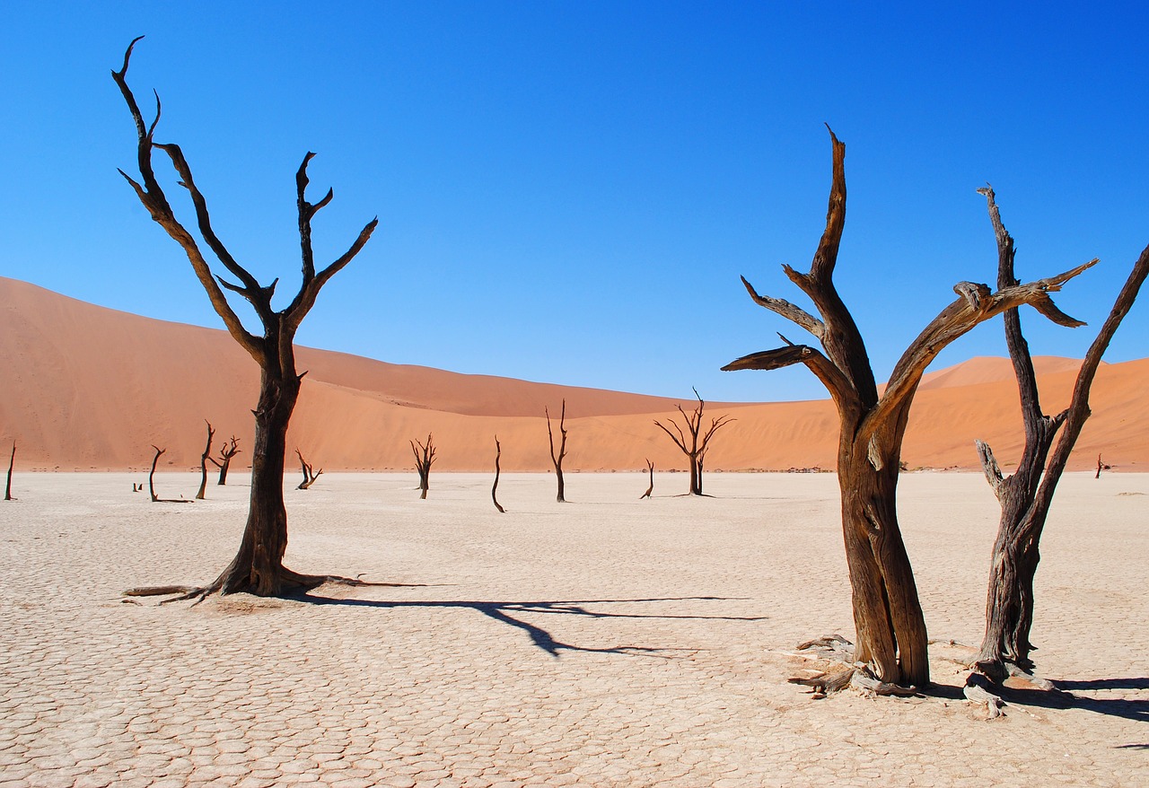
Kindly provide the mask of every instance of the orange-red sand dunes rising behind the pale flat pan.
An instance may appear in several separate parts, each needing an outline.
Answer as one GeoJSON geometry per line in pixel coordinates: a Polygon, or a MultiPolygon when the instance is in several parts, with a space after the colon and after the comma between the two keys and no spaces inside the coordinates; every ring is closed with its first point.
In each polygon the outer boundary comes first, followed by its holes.
{"type": "MultiPolygon", "coordinates": [[[[434,433],[435,470],[489,470],[494,435],[508,471],[550,466],[543,407],[568,405],[570,470],[684,469],[653,424],[677,400],[469,376],[300,348],[309,370],[288,446],[317,468],[414,468],[408,441],[434,433]]],[[[1036,360],[1044,405],[1063,407],[1077,372],[1069,358],[1036,360]]],[[[15,440],[17,465],[41,470],[140,469],[152,445],[161,466],[199,465],[209,419],[216,440],[236,434],[249,459],[259,369],[223,331],[154,320],[0,278],[0,449],[15,440]]],[[[1071,463],[1097,454],[1124,470],[1149,464],[1149,426],[1139,405],[1149,360],[1104,365],[1071,463]]],[[[689,407],[689,402],[685,403],[689,407]]],[[[825,401],[709,405],[737,420],[715,439],[711,470],[832,469],[836,416],[825,401]]],[[[1003,464],[1020,451],[1020,415],[1008,360],[974,358],[932,372],[911,414],[910,468],[976,468],[973,439],[1003,464]]],[[[217,442],[218,446],[218,442],[217,442]]]]}

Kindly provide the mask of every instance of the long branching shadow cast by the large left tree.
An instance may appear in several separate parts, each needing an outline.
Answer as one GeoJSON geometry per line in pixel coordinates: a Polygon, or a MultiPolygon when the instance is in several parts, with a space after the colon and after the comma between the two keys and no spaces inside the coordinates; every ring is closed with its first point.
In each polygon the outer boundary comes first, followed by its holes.
{"type": "Polygon", "coordinates": [[[624,604],[637,602],[686,602],[686,601],[730,601],[723,596],[671,596],[637,600],[569,600],[569,601],[542,601],[542,602],[499,602],[499,601],[388,601],[388,600],[358,600],[338,598],[331,596],[318,596],[310,593],[294,594],[288,598],[308,604],[337,604],[350,608],[379,608],[384,610],[395,610],[400,608],[432,608],[439,610],[469,609],[475,610],[487,618],[500,624],[522,629],[531,639],[531,642],[555,657],[560,658],[562,651],[585,651],[591,654],[629,654],[632,656],[645,655],[669,659],[670,651],[696,651],[697,649],[671,649],[671,648],[648,648],[642,646],[615,646],[611,648],[588,648],[574,646],[556,640],[547,629],[531,624],[522,618],[524,613],[545,613],[558,616],[583,616],[587,618],[660,618],[660,619],[704,619],[725,621],[761,621],[765,616],[681,616],[681,615],[651,615],[651,613],[616,613],[589,610],[585,605],[624,604]],[[514,613],[514,615],[512,615],[514,613]]]}

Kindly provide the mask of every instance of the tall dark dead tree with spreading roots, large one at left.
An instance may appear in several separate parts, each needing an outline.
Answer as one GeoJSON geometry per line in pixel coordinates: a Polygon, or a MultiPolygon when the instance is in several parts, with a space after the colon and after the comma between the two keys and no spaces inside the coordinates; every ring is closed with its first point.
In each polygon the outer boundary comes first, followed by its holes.
{"type": "Polygon", "coordinates": [[[278,279],[270,285],[261,285],[248,269],[232,256],[211,226],[207,200],[195,184],[183,150],[178,145],[153,140],[156,124],[160,122],[160,102],[156,100],[155,119],[151,125],[146,124],[126,82],[132,47],[138,40],[132,41],[124,53],[123,68],[111,74],[136,123],[140,181],[122,170],[121,175],[131,185],[152,218],[184,249],[216,314],[223,319],[232,338],[262,370],[260,400],[254,409],[255,445],[252,450],[250,507],[239,551],[218,578],[202,588],[193,589],[182,598],[202,598],[215,592],[221,594],[250,592],[261,596],[272,596],[293,588],[313,588],[329,578],[300,574],[283,565],[284,551],[287,548],[287,510],[284,507],[283,494],[286,435],[303,377],[295,370],[295,332],[315,306],[321,288],[360,253],[378,221],[368,222],[347,252],[326,268],[316,271],[311,248],[311,219],[319,209],[331,202],[332,192],[329,191],[317,203],[308,202],[304,195],[308,185],[307,165],[315,154],[308,153],[303,156],[303,162],[295,173],[302,283],[291,302],[284,309],[275,310],[271,300],[278,279]],[[176,218],[152,167],[154,148],[162,150],[171,160],[179,185],[191,195],[200,235],[238,284],[223,277],[218,277],[217,280],[200,250],[199,242],[176,218]],[[224,289],[239,294],[250,303],[262,325],[262,335],[248,332],[229,303],[224,289]]]}

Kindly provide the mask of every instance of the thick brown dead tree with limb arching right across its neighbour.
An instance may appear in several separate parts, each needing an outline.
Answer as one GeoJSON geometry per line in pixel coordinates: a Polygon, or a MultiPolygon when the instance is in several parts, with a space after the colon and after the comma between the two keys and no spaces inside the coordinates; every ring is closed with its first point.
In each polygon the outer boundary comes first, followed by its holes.
{"type": "MultiPolygon", "coordinates": [[[[809,273],[784,266],[787,278],[813,302],[820,319],[781,299],[750,298],[817,338],[818,350],[794,345],[743,356],[724,370],[773,370],[805,364],[830,392],[839,414],[838,481],[842,531],[853,588],[856,659],[885,685],[924,686],[930,680],[927,636],[910,559],[897,524],[897,473],[910,404],[926,366],[942,348],[973,326],[1007,309],[1028,303],[1062,325],[1081,325],[1058,310],[1051,291],[1093,262],[1049,279],[990,292],[958,283],[958,298],[907,348],[879,397],[862,334],[833,283],[846,223],[846,146],[831,132],[833,183],[826,229],[809,273]]],[[[1096,262],[1096,261],[1094,261],[1096,262]]]]}

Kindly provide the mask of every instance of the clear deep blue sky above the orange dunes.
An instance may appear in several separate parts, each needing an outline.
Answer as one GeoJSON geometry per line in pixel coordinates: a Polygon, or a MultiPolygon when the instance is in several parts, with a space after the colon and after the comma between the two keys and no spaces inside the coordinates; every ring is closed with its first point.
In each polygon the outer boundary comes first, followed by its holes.
{"type": "MultiPolygon", "coordinates": [[[[109,71],[163,100],[216,230],[298,284],[294,172],[318,156],[321,262],[372,216],[299,341],[460,372],[710,400],[825,396],[803,368],[719,372],[804,333],[830,142],[847,145],[836,281],[876,373],[954,295],[992,283],[997,191],[1024,279],[1094,256],[1024,320],[1080,357],[1149,242],[1149,29],[1140,3],[5,3],[0,273],[222,326],[116,173],[134,129],[109,71]]],[[[157,165],[162,159],[156,159],[157,165]]],[[[163,171],[163,170],[161,170],[163,171]]],[[[183,190],[168,193],[193,224],[183,190]]],[[[1149,355],[1149,294],[1106,356],[1149,355]]],[[[246,304],[239,304],[245,307],[246,304]]],[[[936,362],[1004,355],[982,325],[936,362]]],[[[173,349],[178,354],[178,349],[173,349]]]]}

